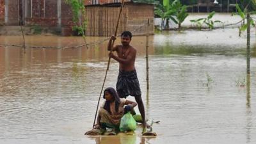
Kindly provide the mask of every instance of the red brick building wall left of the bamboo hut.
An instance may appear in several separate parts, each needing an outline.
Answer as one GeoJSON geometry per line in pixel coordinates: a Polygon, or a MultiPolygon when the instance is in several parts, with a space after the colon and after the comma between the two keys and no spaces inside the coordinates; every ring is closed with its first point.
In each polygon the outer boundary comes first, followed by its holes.
{"type": "Polygon", "coordinates": [[[66,17],[72,17],[70,8],[61,0],[0,0],[0,3],[3,4],[0,17],[4,17],[2,22],[6,26],[61,27],[66,25],[66,17]]]}

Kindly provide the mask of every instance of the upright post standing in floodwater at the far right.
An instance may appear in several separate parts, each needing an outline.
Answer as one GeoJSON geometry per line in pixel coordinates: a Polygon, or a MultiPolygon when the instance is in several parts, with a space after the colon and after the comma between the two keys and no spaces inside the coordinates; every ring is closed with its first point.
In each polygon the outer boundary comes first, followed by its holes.
{"type": "Polygon", "coordinates": [[[250,74],[250,13],[247,13],[247,47],[246,47],[246,72],[250,74]]]}

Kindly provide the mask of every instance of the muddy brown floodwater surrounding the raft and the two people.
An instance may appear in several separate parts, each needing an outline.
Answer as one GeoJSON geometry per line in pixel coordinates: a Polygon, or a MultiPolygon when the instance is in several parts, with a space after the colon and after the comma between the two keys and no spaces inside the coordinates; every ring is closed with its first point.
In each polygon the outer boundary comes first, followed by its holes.
{"type": "MultiPolygon", "coordinates": [[[[88,49],[27,48],[25,54],[0,47],[0,143],[256,143],[255,29],[250,75],[245,35],[216,29],[150,36],[148,95],[146,38],[132,38],[147,118],[161,121],[153,125],[156,138],[141,137],[140,128],[135,136],[84,136],[92,128],[108,65],[107,42],[88,49]]],[[[0,36],[2,44],[21,45],[22,37],[0,36]]],[[[26,44],[64,47],[83,39],[26,36],[26,44]]],[[[117,76],[112,60],[105,87],[115,87],[117,76]]]]}

